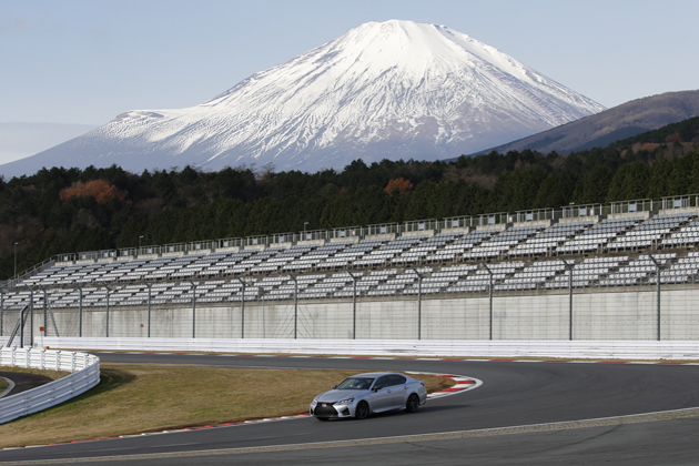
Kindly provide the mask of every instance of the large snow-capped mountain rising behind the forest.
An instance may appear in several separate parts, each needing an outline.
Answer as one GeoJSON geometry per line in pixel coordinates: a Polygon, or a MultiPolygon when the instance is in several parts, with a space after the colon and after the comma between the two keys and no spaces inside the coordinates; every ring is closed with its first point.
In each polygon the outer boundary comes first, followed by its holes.
{"type": "Polygon", "coordinates": [[[125,112],[13,164],[342,169],[357,158],[473,153],[601,110],[464,33],[391,20],[352,29],[209,102],[125,112]]]}

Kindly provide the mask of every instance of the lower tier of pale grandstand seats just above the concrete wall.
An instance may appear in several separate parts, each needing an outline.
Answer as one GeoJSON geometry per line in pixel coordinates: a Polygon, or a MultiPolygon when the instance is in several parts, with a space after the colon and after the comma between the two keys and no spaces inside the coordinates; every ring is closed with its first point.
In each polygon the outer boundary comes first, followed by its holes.
{"type": "MultiPolygon", "coordinates": [[[[699,253],[691,252],[677,259],[676,254],[654,255],[662,266],[661,283],[686,283],[693,281],[699,273],[699,253]]],[[[356,286],[359,296],[414,295],[418,291],[433,293],[483,292],[494,281],[495,291],[526,291],[535,288],[564,288],[569,286],[573,269],[573,286],[620,286],[640,283],[656,283],[656,265],[648,255],[634,261],[628,256],[591,257],[582,261],[561,260],[535,262],[503,262],[484,265],[455,265],[444,267],[421,267],[414,270],[386,269],[371,272],[346,272],[331,274],[246,276],[244,284],[237,278],[223,278],[205,282],[172,281],[154,283],[129,283],[110,285],[110,306],[139,306],[151,304],[197,302],[240,302],[245,300],[288,300],[297,293],[302,300],[347,297],[356,286]],[[416,273],[417,272],[417,273],[416,273]],[[419,275],[422,280],[422,290],[419,275]],[[492,278],[490,278],[492,274],[492,278]],[[243,293],[244,288],[244,293],[243,293]]],[[[63,269],[63,271],[70,267],[63,269]]],[[[113,271],[114,269],[112,269],[113,271]]],[[[105,272],[105,274],[109,272],[105,272]]],[[[58,275],[58,273],[57,273],[58,275]]],[[[65,275],[62,273],[61,275],[65,275]]],[[[53,308],[77,307],[82,293],[83,307],[107,305],[108,290],[101,283],[84,285],[81,290],[48,287],[47,303],[53,308]]],[[[2,294],[2,308],[19,308],[28,304],[30,291],[14,291],[2,294]]],[[[34,306],[43,305],[43,293],[34,293],[34,306]]]]}

